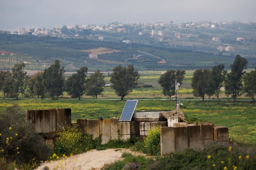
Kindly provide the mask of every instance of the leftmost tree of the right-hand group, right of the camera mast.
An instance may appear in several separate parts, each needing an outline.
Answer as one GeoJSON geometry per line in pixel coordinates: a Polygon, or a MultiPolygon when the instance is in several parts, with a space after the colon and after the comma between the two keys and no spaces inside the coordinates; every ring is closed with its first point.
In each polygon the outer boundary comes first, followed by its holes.
{"type": "Polygon", "coordinates": [[[202,101],[204,101],[204,95],[207,92],[207,86],[208,86],[208,74],[210,70],[209,69],[197,69],[195,70],[193,77],[192,77],[192,88],[193,88],[193,95],[195,97],[201,97],[202,101]]]}

